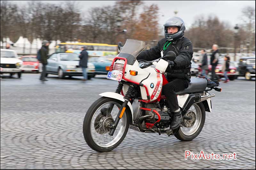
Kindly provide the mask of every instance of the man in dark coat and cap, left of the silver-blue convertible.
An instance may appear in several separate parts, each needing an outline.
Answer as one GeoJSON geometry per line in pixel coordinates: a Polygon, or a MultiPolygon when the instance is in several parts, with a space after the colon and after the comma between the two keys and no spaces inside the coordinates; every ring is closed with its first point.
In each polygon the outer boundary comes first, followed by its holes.
{"type": "Polygon", "coordinates": [[[46,74],[46,65],[47,65],[47,59],[48,59],[48,52],[49,52],[49,41],[46,41],[44,40],[42,42],[42,48],[40,49],[40,55],[41,55],[41,60],[40,60],[40,63],[43,64],[43,70],[42,70],[42,73],[41,73],[41,76],[40,76],[40,80],[41,81],[48,81],[46,78],[45,78],[45,74],[46,74]]]}

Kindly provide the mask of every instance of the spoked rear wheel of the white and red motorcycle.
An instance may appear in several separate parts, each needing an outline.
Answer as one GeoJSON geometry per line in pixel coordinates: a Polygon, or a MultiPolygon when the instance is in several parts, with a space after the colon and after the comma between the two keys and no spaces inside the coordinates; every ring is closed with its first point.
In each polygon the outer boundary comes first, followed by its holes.
{"type": "Polygon", "coordinates": [[[192,119],[183,119],[180,130],[174,136],[181,141],[190,141],[196,138],[204,127],[205,108],[203,103],[193,104],[185,116],[192,119]]]}

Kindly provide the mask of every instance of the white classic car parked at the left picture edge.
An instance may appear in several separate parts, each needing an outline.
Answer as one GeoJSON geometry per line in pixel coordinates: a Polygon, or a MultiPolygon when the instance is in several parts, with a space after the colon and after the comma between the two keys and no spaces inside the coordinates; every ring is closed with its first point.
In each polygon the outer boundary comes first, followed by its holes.
{"type": "Polygon", "coordinates": [[[17,53],[10,49],[1,49],[0,54],[1,74],[10,73],[10,76],[17,73],[21,77],[23,62],[18,58],[17,53]]]}

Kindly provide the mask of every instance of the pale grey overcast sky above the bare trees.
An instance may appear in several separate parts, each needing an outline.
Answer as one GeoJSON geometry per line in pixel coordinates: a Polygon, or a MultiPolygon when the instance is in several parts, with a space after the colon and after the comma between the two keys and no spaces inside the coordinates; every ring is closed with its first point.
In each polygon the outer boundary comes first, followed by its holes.
{"type": "MultiPolygon", "coordinates": [[[[12,1],[16,4],[26,4],[28,1],[12,1]]],[[[60,4],[63,1],[42,1],[47,3],[60,4]]],[[[114,5],[115,1],[75,1],[80,11],[86,14],[86,11],[92,7],[102,7],[114,5]]],[[[225,21],[234,27],[240,24],[239,17],[242,15],[242,9],[245,6],[255,7],[255,1],[144,1],[144,5],[157,4],[159,7],[159,24],[164,25],[167,18],[174,16],[177,10],[177,17],[184,20],[189,28],[195,21],[195,18],[203,15],[208,18],[209,15],[216,15],[220,21],[225,21]]]]}

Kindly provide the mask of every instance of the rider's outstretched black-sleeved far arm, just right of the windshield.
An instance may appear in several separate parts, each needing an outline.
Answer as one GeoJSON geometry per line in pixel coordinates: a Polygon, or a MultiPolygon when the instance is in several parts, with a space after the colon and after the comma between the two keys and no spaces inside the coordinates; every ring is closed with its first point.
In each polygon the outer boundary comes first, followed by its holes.
{"type": "Polygon", "coordinates": [[[153,60],[156,60],[158,58],[161,57],[161,54],[160,54],[160,44],[159,44],[159,41],[158,43],[156,44],[156,46],[148,49],[148,50],[145,50],[145,51],[142,51],[138,56],[137,56],[137,60],[146,60],[146,61],[153,61],[153,60]]]}

